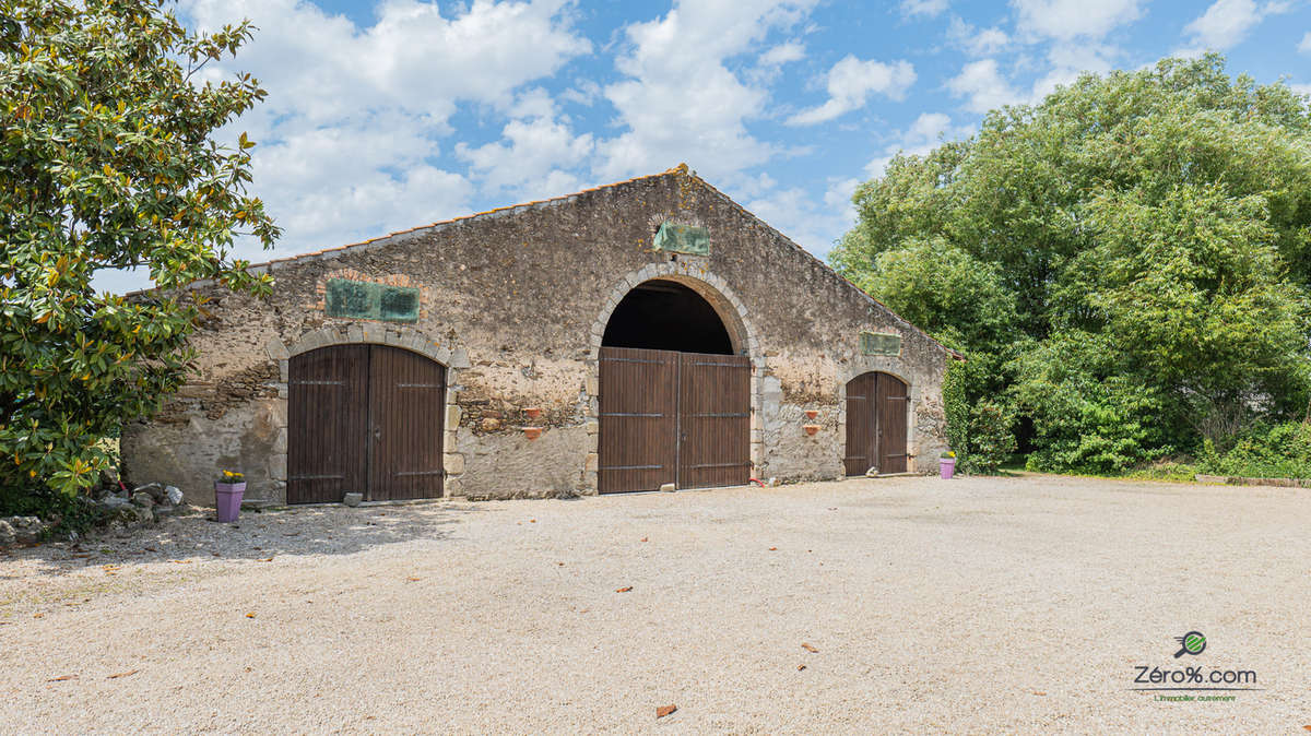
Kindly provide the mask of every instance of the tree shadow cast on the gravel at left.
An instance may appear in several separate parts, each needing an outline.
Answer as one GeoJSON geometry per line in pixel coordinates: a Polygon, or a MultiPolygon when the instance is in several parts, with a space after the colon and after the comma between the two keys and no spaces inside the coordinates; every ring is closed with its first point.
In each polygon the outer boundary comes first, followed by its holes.
{"type": "Polygon", "coordinates": [[[0,553],[0,581],[102,566],[355,554],[396,542],[447,540],[455,524],[479,511],[476,504],[450,503],[323,506],[243,511],[236,524],[219,524],[212,521],[212,511],[197,509],[122,534],[0,553]],[[5,562],[17,561],[35,563],[37,568],[28,564],[17,574],[5,570],[5,562]]]}

